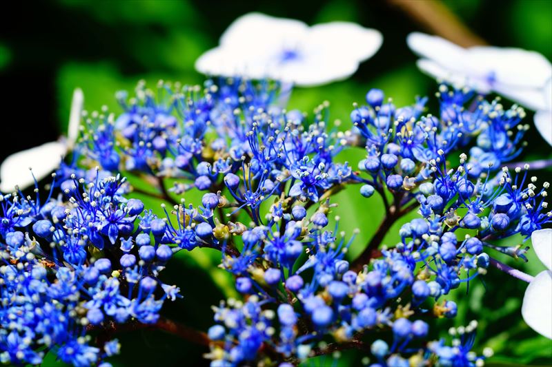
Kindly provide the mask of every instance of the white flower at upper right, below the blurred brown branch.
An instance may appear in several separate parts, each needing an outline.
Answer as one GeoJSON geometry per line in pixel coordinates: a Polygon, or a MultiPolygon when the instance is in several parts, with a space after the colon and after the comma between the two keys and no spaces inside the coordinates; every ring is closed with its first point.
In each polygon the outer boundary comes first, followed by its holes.
{"type": "Polygon", "coordinates": [[[552,145],[552,64],[542,54],[520,48],[462,48],[439,36],[411,33],[408,47],[423,57],[418,67],[437,79],[466,85],[477,92],[495,92],[535,114],[535,126],[552,145]]]}

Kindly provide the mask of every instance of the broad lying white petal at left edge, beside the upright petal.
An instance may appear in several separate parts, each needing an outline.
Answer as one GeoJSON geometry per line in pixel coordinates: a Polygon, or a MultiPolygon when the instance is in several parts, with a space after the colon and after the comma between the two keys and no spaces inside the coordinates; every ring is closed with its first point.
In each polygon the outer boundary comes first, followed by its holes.
{"type": "Polygon", "coordinates": [[[19,151],[0,165],[0,191],[10,192],[16,185],[26,189],[34,184],[29,167],[37,180],[41,180],[59,167],[61,156],[67,152],[67,145],[53,141],[39,147],[19,151]]]}

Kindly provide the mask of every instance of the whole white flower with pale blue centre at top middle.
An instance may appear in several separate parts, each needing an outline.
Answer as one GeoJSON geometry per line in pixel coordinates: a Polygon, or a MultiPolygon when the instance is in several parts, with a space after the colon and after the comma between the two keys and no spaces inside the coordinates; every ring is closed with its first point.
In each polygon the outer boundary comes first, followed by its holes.
{"type": "Polygon", "coordinates": [[[382,34],[355,23],[309,27],[301,21],[249,13],[222,34],[220,45],[197,59],[209,75],[273,78],[302,86],[351,76],[382,45],[382,34]]]}

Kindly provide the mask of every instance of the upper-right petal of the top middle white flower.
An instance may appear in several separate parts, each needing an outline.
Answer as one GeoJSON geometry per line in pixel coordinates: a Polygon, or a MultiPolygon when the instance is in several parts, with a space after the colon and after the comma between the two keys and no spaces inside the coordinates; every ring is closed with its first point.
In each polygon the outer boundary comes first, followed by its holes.
{"type": "Polygon", "coordinates": [[[383,36],[356,23],[335,21],[314,25],[308,31],[306,42],[331,50],[342,59],[364,61],[380,50],[383,36]]]}

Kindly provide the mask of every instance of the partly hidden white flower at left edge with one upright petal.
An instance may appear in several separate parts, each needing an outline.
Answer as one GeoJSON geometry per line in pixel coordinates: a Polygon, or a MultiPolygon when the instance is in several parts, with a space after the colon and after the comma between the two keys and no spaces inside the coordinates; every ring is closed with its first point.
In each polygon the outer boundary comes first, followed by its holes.
{"type": "Polygon", "coordinates": [[[75,89],[66,138],[62,137],[58,141],[18,151],[2,162],[0,165],[0,191],[13,191],[16,186],[19,189],[26,189],[34,185],[32,175],[39,181],[59,167],[61,158],[72,149],[77,140],[83,101],[82,90],[75,89]],[[32,168],[32,175],[29,171],[30,168],[32,168]]]}

